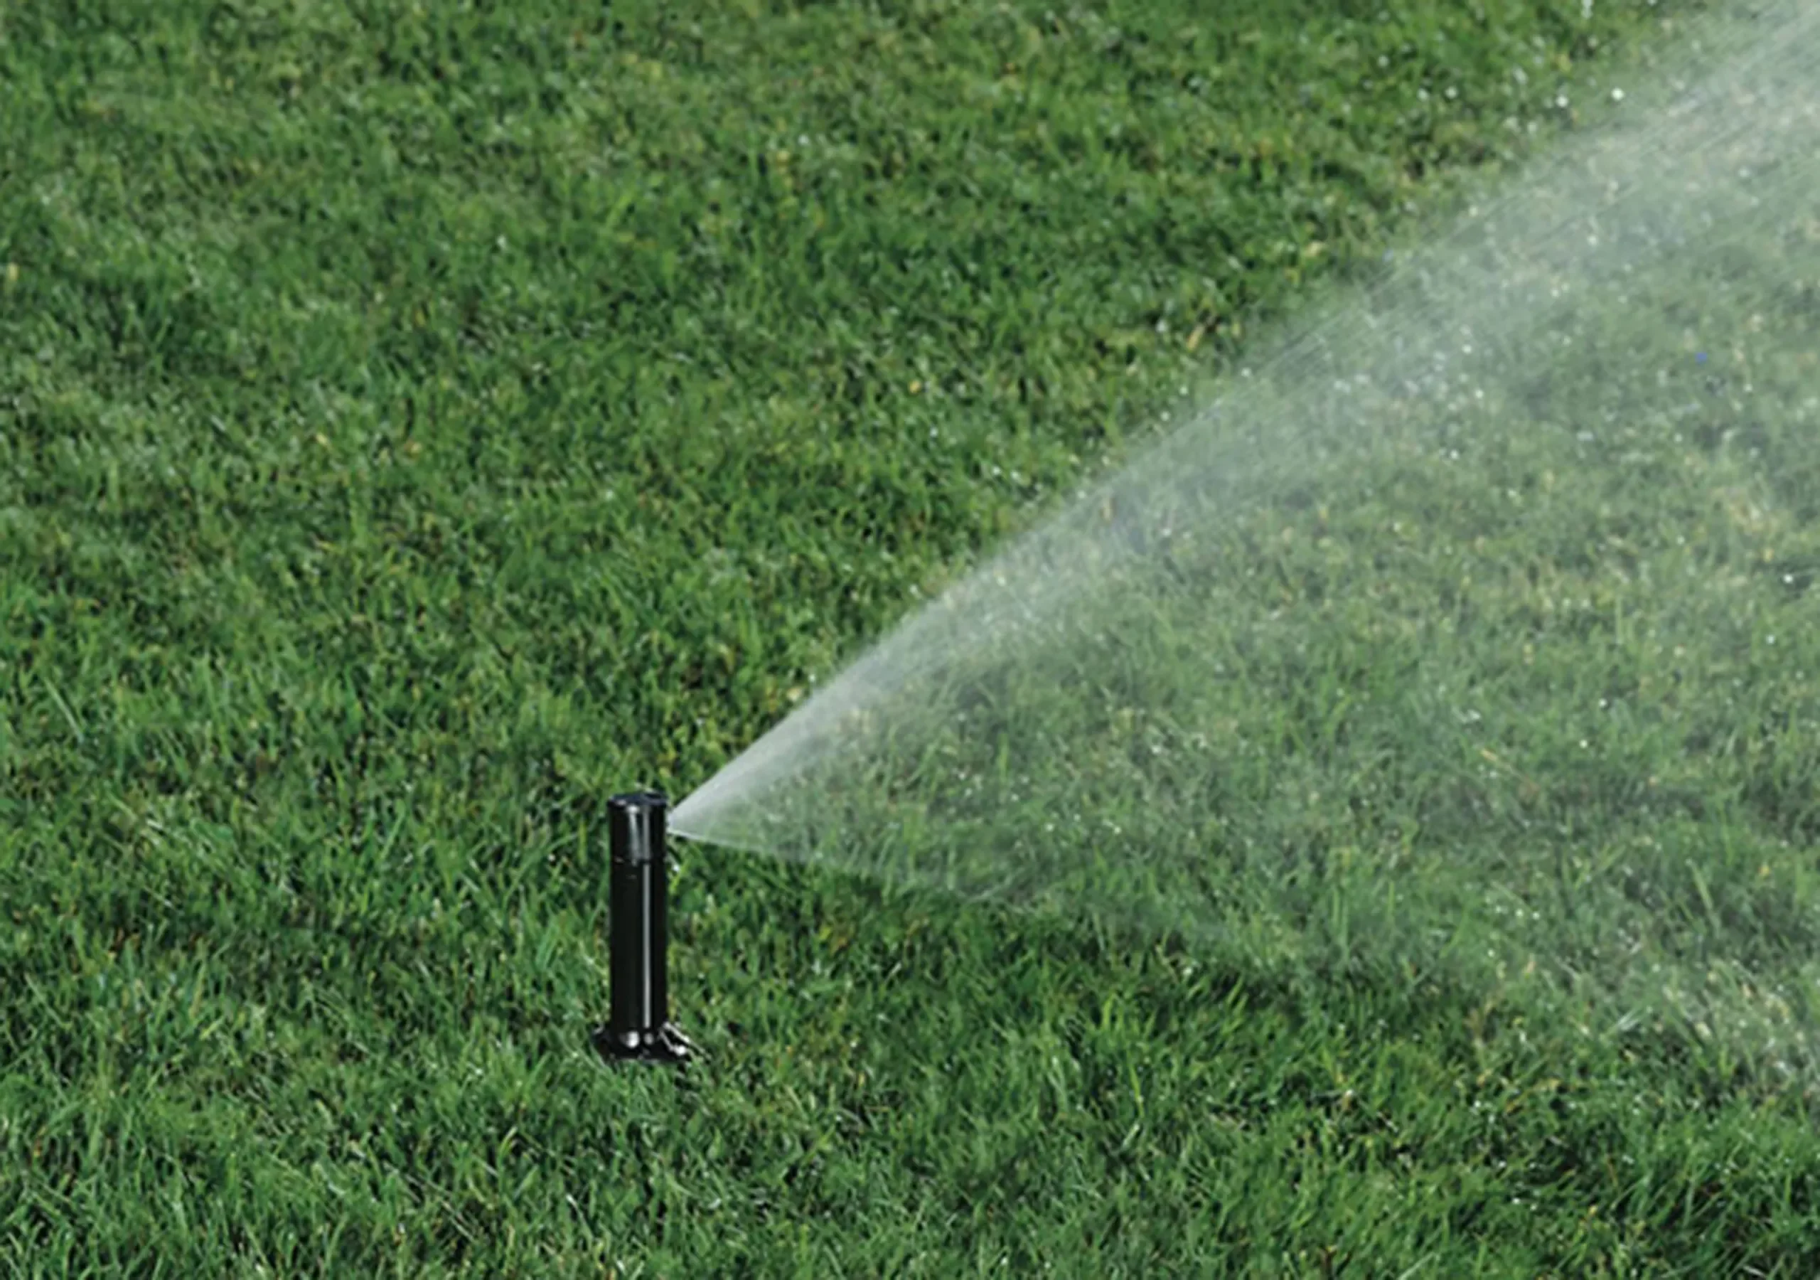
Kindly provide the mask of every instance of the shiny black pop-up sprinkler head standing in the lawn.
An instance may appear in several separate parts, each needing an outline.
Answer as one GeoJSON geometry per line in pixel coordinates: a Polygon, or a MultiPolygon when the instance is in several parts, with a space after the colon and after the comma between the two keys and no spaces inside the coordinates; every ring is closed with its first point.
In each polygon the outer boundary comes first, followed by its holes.
{"type": "Polygon", "coordinates": [[[606,801],[612,854],[608,889],[612,934],[612,1020],[593,1032],[610,1062],[690,1060],[693,1045],[670,1021],[670,869],[664,861],[664,812],[659,792],[606,801]]]}

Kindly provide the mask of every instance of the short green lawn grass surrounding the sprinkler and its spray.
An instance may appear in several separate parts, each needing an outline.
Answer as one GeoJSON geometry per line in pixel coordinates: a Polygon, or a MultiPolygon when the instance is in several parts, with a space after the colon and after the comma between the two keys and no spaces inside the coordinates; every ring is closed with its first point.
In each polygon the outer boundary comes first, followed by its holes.
{"type": "MultiPolygon", "coordinates": [[[[688,850],[706,1062],[586,1041],[604,794],[706,781],[1689,9],[9,5],[0,1267],[1811,1275],[1798,1087],[1445,974],[688,850]]],[[[1805,588],[1767,444],[1784,524],[1696,515],[1805,588]]],[[[1503,604],[1609,634],[1598,501],[1512,526],[1503,604]]],[[[1460,566],[1403,550],[1432,634],[1460,566]]],[[[1815,666],[1689,626],[1733,767],[1682,838],[1793,876],[1811,721],[1764,723],[1815,666]]],[[[1587,681],[1667,661],[1607,659],[1549,654],[1549,787],[1587,681]]]]}

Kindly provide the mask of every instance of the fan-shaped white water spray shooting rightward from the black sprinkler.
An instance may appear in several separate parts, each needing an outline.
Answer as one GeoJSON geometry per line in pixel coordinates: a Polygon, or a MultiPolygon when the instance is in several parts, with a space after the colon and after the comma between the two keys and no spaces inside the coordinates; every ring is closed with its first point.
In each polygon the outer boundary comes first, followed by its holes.
{"type": "Polygon", "coordinates": [[[1733,767],[1725,726],[1680,708],[1774,661],[1751,601],[1813,577],[1773,543],[1820,503],[1820,5],[1682,55],[910,615],[672,830],[1800,1060],[1820,885],[1793,845],[1727,852],[1685,799],[1733,767]]]}

